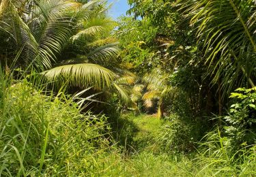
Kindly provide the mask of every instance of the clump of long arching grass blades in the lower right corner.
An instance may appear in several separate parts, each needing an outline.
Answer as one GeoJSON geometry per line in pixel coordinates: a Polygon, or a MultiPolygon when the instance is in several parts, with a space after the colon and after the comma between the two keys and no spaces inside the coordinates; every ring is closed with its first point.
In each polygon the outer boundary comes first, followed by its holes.
{"type": "Polygon", "coordinates": [[[216,127],[205,135],[205,142],[200,143],[197,161],[198,174],[211,176],[255,176],[256,144],[231,151],[227,137],[222,137],[216,127]]]}

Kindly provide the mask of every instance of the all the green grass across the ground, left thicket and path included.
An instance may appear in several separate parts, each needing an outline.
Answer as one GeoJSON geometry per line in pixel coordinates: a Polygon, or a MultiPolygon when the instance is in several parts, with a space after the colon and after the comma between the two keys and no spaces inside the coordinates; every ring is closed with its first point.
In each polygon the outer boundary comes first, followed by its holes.
{"type": "Polygon", "coordinates": [[[256,146],[229,157],[218,135],[198,152],[167,153],[156,138],[168,122],[155,116],[122,114],[109,124],[81,114],[72,97],[1,73],[0,99],[0,176],[256,175],[256,146]]]}

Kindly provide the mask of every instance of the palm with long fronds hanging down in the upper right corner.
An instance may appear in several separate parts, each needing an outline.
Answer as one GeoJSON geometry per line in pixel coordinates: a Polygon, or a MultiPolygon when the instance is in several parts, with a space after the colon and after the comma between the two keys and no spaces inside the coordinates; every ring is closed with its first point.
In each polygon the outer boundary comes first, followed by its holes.
{"type": "Polygon", "coordinates": [[[227,93],[244,82],[255,86],[256,6],[254,0],[180,0],[177,7],[197,29],[208,75],[227,93]],[[242,77],[241,77],[242,76],[242,77]]]}

